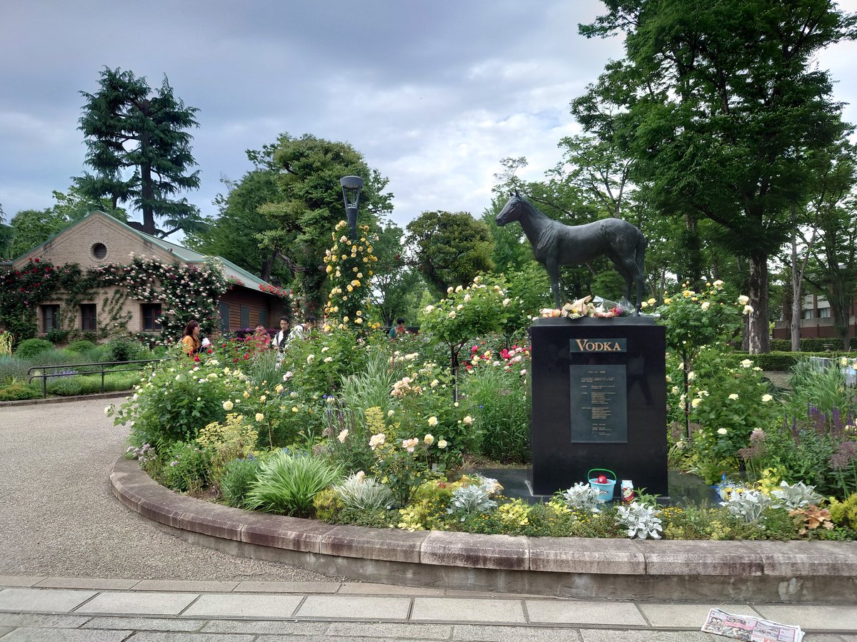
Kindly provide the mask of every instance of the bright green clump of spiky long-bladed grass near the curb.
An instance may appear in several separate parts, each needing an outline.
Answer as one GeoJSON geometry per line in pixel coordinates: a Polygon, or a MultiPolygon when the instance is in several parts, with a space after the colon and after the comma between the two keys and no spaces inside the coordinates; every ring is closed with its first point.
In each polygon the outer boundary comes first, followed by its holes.
{"type": "Polygon", "coordinates": [[[313,498],[339,478],[339,467],[309,455],[281,450],[259,467],[245,505],[267,513],[309,515],[313,498]]]}

